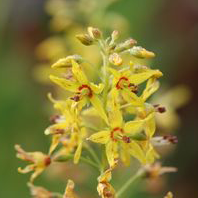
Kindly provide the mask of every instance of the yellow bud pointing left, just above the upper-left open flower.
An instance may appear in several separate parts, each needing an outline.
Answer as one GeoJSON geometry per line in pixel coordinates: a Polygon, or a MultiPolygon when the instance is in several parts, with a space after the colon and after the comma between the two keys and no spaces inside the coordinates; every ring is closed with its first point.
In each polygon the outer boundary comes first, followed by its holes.
{"type": "Polygon", "coordinates": [[[80,55],[74,54],[71,56],[67,56],[66,58],[59,59],[56,63],[52,65],[52,68],[64,68],[64,67],[71,67],[72,60],[76,61],[77,63],[83,63],[83,58],[80,55]]]}

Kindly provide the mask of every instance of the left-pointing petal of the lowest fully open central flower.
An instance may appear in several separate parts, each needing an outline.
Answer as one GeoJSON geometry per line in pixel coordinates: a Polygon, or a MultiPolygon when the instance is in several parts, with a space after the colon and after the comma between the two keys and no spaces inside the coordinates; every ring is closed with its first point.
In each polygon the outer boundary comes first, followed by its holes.
{"type": "Polygon", "coordinates": [[[109,138],[110,138],[110,131],[100,131],[98,133],[94,133],[87,139],[95,143],[107,144],[109,138]]]}

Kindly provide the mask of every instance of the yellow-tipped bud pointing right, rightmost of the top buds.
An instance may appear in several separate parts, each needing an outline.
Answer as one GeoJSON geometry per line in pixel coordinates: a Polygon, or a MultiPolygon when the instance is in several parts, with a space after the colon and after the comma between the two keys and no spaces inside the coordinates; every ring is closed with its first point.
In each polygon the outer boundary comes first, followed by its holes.
{"type": "Polygon", "coordinates": [[[147,51],[143,47],[135,46],[130,50],[130,54],[136,58],[153,58],[155,54],[153,52],[147,51]]]}

